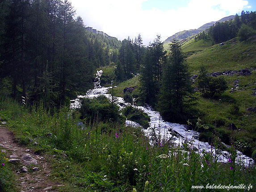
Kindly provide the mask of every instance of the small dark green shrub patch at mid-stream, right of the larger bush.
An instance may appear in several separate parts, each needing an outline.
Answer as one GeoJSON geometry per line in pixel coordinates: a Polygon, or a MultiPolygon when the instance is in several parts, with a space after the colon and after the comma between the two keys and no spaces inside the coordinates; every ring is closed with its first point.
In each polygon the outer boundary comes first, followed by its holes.
{"type": "Polygon", "coordinates": [[[143,126],[144,129],[149,127],[150,118],[147,113],[144,113],[141,109],[126,106],[126,108],[123,109],[123,114],[128,120],[137,122],[139,125],[143,126]]]}

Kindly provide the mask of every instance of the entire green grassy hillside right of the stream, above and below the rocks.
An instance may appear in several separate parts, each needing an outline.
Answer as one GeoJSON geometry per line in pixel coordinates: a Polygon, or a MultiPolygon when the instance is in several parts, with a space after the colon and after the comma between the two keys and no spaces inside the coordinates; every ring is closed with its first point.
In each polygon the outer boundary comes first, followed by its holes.
{"type": "Polygon", "coordinates": [[[198,74],[201,65],[206,66],[209,72],[239,71],[245,68],[252,71],[251,75],[246,76],[225,76],[228,89],[222,95],[206,99],[197,93],[197,108],[202,113],[204,123],[214,127],[211,132],[228,144],[236,142],[238,145],[238,142],[242,142],[244,148],[241,150],[251,155],[253,150],[256,150],[256,113],[248,112],[246,109],[256,106],[256,97],[253,95],[253,89],[256,88],[256,71],[253,68],[256,67],[256,41],[252,39],[248,42],[239,42],[235,38],[225,42],[223,46],[210,46],[210,42],[202,43],[203,40],[187,43],[182,47],[184,52],[198,51],[206,47],[187,58],[191,74],[198,74]],[[239,82],[238,85],[235,85],[235,82],[239,82]],[[231,88],[235,87],[236,91],[231,93],[231,88]],[[234,123],[240,131],[232,131],[229,128],[230,123],[234,123]]]}

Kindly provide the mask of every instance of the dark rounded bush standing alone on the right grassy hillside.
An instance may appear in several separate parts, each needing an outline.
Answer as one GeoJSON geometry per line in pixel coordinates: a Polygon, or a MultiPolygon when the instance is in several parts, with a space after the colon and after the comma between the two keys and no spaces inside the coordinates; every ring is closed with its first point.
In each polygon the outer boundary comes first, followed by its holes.
{"type": "Polygon", "coordinates": [[[207,75],[206,67],[201,66],[197,77],[197,87],[203,97],[211,98],[215,93],[222,93],[227,90],[227,81],[223,76],[213,77],[207,75]]]}

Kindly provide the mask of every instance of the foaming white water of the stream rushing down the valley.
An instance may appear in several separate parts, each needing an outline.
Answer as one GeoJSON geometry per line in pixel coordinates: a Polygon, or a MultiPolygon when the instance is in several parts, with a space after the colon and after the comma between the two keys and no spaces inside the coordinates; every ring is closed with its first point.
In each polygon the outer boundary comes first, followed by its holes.
{"type": "MultiPolygon", "coordinates": [[[[80,108],[81,101],[80,98],[88,97],[88,98],[94,98],[100,95],[105,95],[107,98],[111,99],[111,95],[107,94],[108,90],[112,87],[101,87],[100,85],[100,77],[102,75],[102,70],[97,71],[95,83],[94,83],[94,89],[88,90],[85,96],[77,96],[75,100],[71,100],[71,108],[77,109],[80,108]]],[[[118,106],[120,109],[123,109],[128,105],[129,103],[126,103],[122,97],[117,97],[116,99],[118,106]]],[[[135,106],[134,106],[135,107],[135,106]]],[[[206,152],[209,152],[213,155],[217,154],[217,158],[219,162],[227,163],[228,158],[231,156],[231,154],[225,150],[215,150],[214,146],[211,146],[207,142],[200,142],[198,140],[199,133],[193,130],[187,130],[183,125],[176,124],[176,123],[170,123],[166,122],[162,119],[159,112],[154,111],[150,106],[136,106],[138,109],[142,109],[147,115],[150,117],[149,125],[151,128],[156,129],[156,133],[161,135],[161,138],[165,139],[171,139],[173,143],[176,144],[176,146],[182,146],[182,143],[187,141],[190,146],[193,146],[194,150],[197,151],[197,153],[202,153],[203,150],[206,152]],[[169,131],[170,130],[170,131],[169,131]],[[178,133],[176,136],[172,135],[172,131],[178,133]]],[[[140,126],[138,123],[134,121],[126,120],[126,125],[131,125],[138,127],[140,126]]],[[[148,129],[143,129],[146,136],[150,133],[150,127],[148,129]]],[[[253,165],[252,158],[249,158],[248,156],[242,154],[240,151],[237,150],[237,157],[236,157],[236,163],[244,164],[244,166],[253,165]]]]}

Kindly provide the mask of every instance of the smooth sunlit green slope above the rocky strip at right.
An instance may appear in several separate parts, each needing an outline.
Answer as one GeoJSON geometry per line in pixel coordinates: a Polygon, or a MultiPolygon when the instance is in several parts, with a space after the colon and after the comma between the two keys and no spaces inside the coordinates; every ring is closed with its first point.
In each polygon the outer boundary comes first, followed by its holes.
{"type": "MultiPolygon", "coordinates": [[[[197,49],[190,46],[190,50],[197,49]]],[[[239,42],[237,38],[225,42],[225,45],[214,45],[197,52],[187,58],[189,70],[197,74],[201,65],[205,65],[209,72],[240,70],[242,68],[256,67],[256,40],[239,42]]]]}

